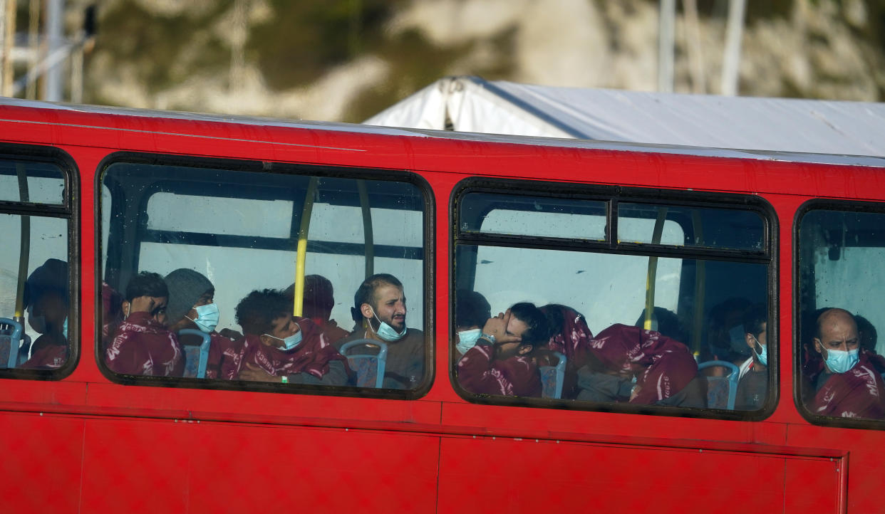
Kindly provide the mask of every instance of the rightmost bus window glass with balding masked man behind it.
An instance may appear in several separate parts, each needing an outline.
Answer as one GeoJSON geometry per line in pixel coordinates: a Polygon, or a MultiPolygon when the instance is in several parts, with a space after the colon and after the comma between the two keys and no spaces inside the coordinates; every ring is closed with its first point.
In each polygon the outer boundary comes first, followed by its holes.
{"type": "MultiPolygon", "coordinates": [[[[814,423],[885,418],[885,213],[811,203],[798,225],[799,403],[814,423]]],[[[860,422],[859,426],[866,425],[860,422]]]]}

